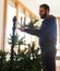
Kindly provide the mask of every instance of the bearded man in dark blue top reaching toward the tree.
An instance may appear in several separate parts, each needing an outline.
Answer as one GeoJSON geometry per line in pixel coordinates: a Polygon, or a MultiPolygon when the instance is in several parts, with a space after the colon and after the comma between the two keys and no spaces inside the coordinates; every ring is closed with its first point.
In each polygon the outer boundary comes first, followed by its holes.
{"type": "Polygon", "coordinates": [[[20,27],[19,29],[38,36],[41,54],[44,54],[44,71],[56,71],[57,22],[53,15],[49,15],[49,5],[39,5],[39,15],[44,19],[40,28],[20,27]]]}

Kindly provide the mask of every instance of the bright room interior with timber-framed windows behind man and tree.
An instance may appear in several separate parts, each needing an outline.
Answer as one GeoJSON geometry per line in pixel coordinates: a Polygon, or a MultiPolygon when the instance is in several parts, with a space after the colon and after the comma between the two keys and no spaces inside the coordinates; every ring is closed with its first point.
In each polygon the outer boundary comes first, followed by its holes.
{"type": "MultiPolygon", "coordinates": [[[[13,40],[11,39],[14,35],[16,35],[19,39],[23,37],[25,44],[29,44],[31,46],[34,43],[35,49],[37,49],[37,47],[40,48],[38,37],[21,32],[16,27],[26,26],[35,20],[38,20],[35,26],[39,27],[43,22],[39,17],[39,5],[43,3],[50,7],[50,14],[55,15],[57,20],[56,71],[60,71],[60,0],[0,0],[0,50],[5,52],[13,52],[14,50],[16,54],[20,49],[22,51],[25,49],[26,51],[28,50],[26,45],[23,44],[20,45],[20,47],[17,43],[13,48],[13,40]],[[13,20],[14,16],[16,20],[13,20]],[[13,24],[15,24],[15,27],[13,27],[13,24]],[[13,28],[15,29],[14,35],[12,35],[13,28]]],[[[40,50],[38,52],[40,52],[40,50]]],[[[10,55],[7,56],[7,60],[9,59],[10,55]]]]}

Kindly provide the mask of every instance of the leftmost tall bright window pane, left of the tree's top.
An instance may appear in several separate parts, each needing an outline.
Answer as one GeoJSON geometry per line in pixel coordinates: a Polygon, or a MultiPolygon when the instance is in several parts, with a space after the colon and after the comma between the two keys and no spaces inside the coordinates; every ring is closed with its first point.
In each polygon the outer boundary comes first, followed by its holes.
{"type": "Polygon", "coordinates": [[[11,45],[8,43],[10,34],[12,34],[13,16],[15,15],[15,8],[8,4],[7,25],[5,25],[5,49],[11,49],[11,45]]]}

